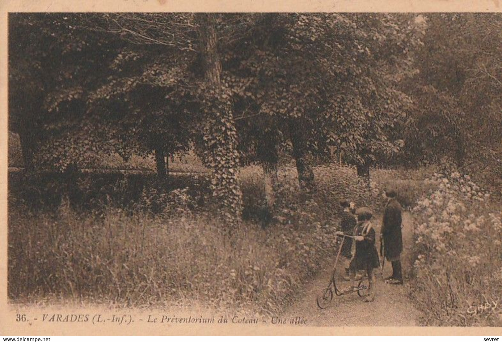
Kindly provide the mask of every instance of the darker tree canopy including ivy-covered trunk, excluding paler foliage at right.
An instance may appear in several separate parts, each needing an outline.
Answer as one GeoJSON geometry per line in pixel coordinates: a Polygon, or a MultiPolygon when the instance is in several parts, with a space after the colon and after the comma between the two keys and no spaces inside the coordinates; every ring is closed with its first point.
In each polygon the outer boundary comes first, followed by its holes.
{"type": "Polygon", "coordinates": [[[155,151],[163,175],[165,156],[195,144],[215,171],[215,196],[238,217],[241,163],[269,163],[273,173],[285,151],[300,185],[312,188],[310,155],[335,149],[368,174],[379,155],[398,151],[402,141],[389,132],[406,117],[398,84],[413,70],[424,26],[417,18],[13,15],[12,32],[34,36],[42,27],[43,36],[37,44],[12,36],[11,83],[49,84],[12,87],[12,116],[21,118],[13,122],[39,164],[61,170],[84,166],[89,151],[155,151]],[[44,74],[23,72],[33,70],[23,63],[44,74]]]}

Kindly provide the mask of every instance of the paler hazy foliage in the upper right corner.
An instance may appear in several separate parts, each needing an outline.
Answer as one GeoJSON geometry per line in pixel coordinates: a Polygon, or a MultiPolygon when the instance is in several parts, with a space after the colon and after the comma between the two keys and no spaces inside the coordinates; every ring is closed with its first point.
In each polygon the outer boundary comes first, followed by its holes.
{"type": "MultiPolygon", "coordinates": [[[[482,184],[502,188],[502,16],[428,14],[420,70],[403,86],[414,99],[403,159],[449,159],[482,184]]],[[[500,194],[499,190],[497,191],[500,194]]]]}

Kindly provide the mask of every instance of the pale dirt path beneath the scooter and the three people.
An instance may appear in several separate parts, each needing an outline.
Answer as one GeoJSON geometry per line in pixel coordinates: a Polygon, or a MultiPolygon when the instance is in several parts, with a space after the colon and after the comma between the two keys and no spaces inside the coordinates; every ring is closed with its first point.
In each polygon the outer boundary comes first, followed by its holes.
{"type": "MultiPolygon", "coordinates": [[[[378,222],[374,220],[374,222],[378,222]]],[[[374,224],[375,225],[375,224],[374,224]]],[[[365,303],[356,293],[333,296],[330,306],[319,309],[316,296],[322,292],[329,282],[331,269],[319,272],[318,276],[304,288],[293,305],[284,312],[284,317],[302,316],[308,319],[309,325],[316,326],[347,326],[347,325],[379,325],[403,326],[416,325],[417,310],[407,298],[406,278],[411,267],[411,256],[408,253],[413,243],[412,217],[409,213],[403,215],[403,244],[402,256],[405,285],[397,286],[386,284],[382,280],[380,270],[375,270],[375,300],[365,303]]],[[[375,227],[376,235],[380,234],[380,226],[375,227]]],[[[380,241],[376,241],[380,246],[380,241]]],[[[392,273],[390,263],[385,264],[385,276],[392,273]]],[[[343,288],[346,283],[340,282],[338,287],[343,288]]]]}

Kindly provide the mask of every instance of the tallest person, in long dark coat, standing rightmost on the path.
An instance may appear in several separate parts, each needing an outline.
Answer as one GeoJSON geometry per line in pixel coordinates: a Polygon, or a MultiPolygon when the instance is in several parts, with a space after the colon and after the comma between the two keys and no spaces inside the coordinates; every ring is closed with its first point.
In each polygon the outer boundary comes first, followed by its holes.
{"type": "Polygon", "coordinates": [[[389,284],[403,284],[401,253],[403,252],[403,235],[401,232],[401,204],[396,199],[396,191],[385,192],[388,198],[382,222],[380,255],[392,263],[392,275],[386,278],[389,284]]]}

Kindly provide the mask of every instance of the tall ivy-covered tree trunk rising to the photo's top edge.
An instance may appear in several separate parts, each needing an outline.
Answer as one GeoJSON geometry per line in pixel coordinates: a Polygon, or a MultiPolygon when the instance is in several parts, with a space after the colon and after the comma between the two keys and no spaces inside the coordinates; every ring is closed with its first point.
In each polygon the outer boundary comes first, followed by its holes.
{"type": "Polygon", "coordinates": [[[197,14],[197,20],[206,80],[205,108],[209,115],[204,129],[204,159],[214,170],[211,182],[213,197],[221,204],[225,217],[238,221],[242,213],[242,193],[237,178],[237,131],[230,92],[221,82],[215,14],[197,14]]]}

